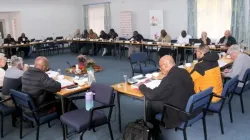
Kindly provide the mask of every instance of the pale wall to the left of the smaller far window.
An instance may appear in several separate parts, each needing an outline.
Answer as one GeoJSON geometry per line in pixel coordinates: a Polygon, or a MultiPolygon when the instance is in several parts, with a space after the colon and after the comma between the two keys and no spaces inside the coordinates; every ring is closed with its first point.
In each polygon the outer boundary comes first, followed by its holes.
{"type": "Polygon", "coordinates": [[[80,27],[82,7],[75,0],[0,0],[0,3],[0,12],[20,11],[18,32],[29,38],[68,36],[80,27]]]}

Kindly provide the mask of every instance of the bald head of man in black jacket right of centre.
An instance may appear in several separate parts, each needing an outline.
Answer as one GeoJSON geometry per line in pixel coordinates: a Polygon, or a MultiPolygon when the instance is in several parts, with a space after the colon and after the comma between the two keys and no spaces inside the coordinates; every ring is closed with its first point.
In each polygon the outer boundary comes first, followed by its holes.
{"type": "Polygon", "coordinates": [[[175,65],[174,59],[170,55],[161,57],[159,67],[163,74],[167,75],[170,69],[175,65]]]}

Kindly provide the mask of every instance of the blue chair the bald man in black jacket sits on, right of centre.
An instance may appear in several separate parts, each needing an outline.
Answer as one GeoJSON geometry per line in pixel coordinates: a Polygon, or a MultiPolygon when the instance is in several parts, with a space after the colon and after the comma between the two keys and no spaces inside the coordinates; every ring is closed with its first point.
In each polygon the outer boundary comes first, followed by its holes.
{"type": "MultiPolygon", "coordinates": [[[[209,107],[210,101],[212,99],[212,91],[213,87],[210,87],[200,93],[192,95],[188,102],[185,111],[172,106],[170,104],[164,104],[163,113],[165,114],[166,109],[175,110],[185,116],[185,122],[183,122],[176,130],[183,131],[184,140],[187,140],[186,128],[196,123],[197,121],[202,119],[203,122],[203,131],[205,140],[207,140],[207,130],[206,130],[206,110],[209,107]]],[[[158,114],[156,115],[156,119],[163,123],[164,115],[158,114]]]]}

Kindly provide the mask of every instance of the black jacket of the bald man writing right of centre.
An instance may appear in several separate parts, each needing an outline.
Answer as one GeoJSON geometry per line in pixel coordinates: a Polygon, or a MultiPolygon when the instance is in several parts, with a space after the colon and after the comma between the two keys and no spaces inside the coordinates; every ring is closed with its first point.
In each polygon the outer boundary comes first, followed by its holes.
{"type": "MultiPolygon", "coordinates": [[[[157,88],[152,90],[141,85],[139,89],[149,100],[168,103],[182,110],[185,110],[189,97],[195,93],[190,74],[178,67],[173,67],[157,88]]],[[[173,110],[167,110],[164,116],[167,128],[178,127],[185,118],[173,110]]]]}

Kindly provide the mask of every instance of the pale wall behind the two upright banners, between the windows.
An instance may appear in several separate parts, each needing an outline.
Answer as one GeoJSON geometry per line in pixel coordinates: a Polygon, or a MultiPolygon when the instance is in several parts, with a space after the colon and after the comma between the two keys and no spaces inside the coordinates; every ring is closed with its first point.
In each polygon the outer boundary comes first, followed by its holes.
{"type": "MultiPolygon", "coordinates": [[[[164,28],[175,38],[187,30],[187,0],[78,0],[79,4],[111,2],[111,27],[120,32],[120,11],[132,11],[133,30],[150,36],[149,10],[164,11],[164,28]]],[[[82,15],[83,17],[83,15],[82,15]]],[[[83,24],[83,23],[81,23],[83,24]]]]}

